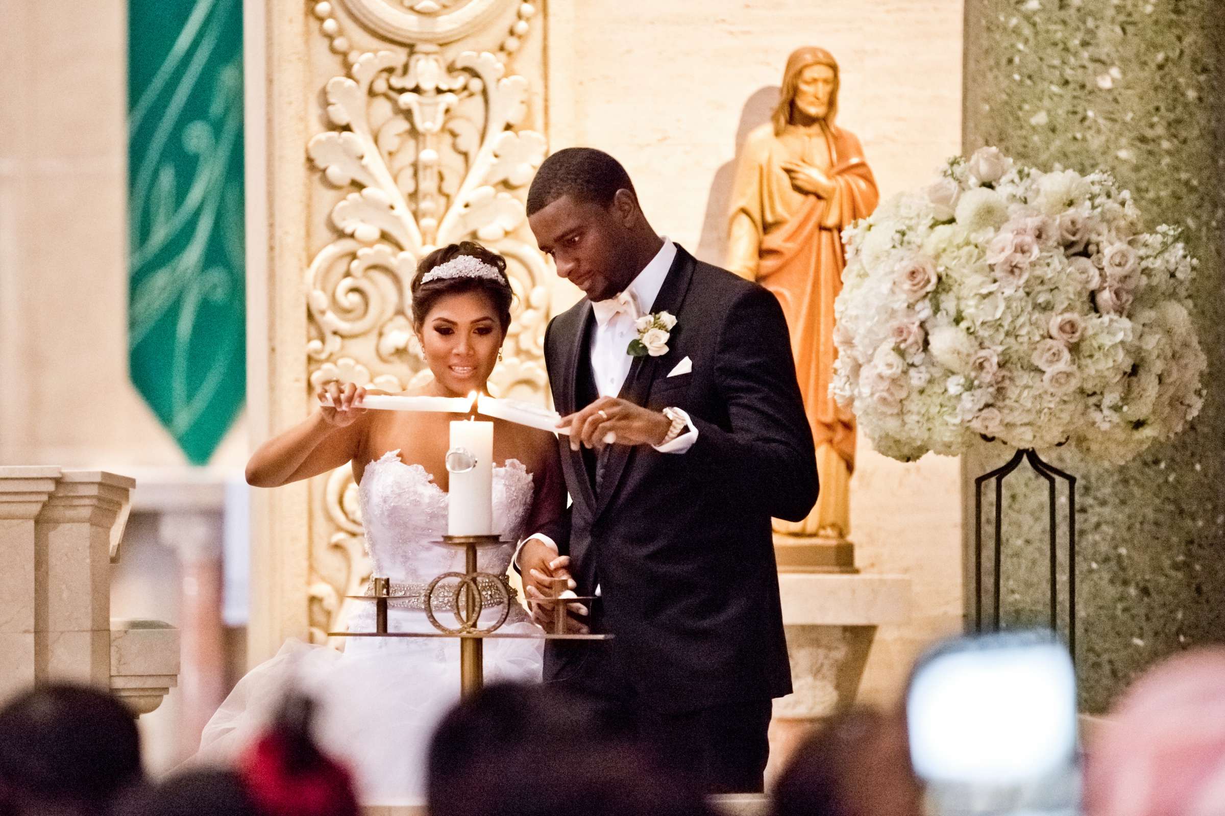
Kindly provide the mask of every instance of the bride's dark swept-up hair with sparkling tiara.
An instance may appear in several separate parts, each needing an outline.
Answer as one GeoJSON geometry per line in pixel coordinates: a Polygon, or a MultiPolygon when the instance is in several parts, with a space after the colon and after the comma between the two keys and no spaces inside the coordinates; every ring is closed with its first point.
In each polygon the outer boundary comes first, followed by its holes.
{"type": "Polygon", "coordinates": [[[489,297],[505,335],[511,325],[514,299],[506,276],[506,258],[473,241],[437,248],[417,264],[412,289],[413,325],[420,330],[425,316],[440,300],[464,292],[484,292],[489,297]]]}

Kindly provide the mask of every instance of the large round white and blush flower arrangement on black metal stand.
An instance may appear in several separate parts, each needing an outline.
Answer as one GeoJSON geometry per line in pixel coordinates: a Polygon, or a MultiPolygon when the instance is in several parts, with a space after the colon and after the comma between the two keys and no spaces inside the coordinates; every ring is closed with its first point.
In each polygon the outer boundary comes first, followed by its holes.
{"type": "Polygon", "coordinates": [[[1199,412],[1197,263],[1107,172],[984,148],[843,237],[831,393],[888,456],[987,437],[1122,464],[1199,412]]]}

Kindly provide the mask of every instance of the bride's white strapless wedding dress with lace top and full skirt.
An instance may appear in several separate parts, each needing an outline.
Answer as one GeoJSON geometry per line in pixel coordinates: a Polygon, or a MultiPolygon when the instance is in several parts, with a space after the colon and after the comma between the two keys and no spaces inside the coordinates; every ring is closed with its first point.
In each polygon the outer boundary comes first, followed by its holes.
{"type": "MultiPolygon", "coordinates": [[[[432,632],[420,592],[435,576],[463,571],[463,552],[435,543],[447,527],[447,494],[420,465],[399,451],[366,465],[359,488],[366,548],[374,574],[388,576],[393,598],[387,629],[432,632]]],[[[503,540],[524,533],[532,509],[532,475],[513,459],[494,469],[494,529],[503,540]]],[[[480,551],[483,573],[505,575],[513,544],[480,551]]],[[[436,604],[441,606],[441,604],[436,604]]],[[[435,609],[453,625],[452,613],[435,609]]],[[[497,612],[485,610],[489,625],[497,612]]],[[[348,631],[374,631],[375,608],[356,602],[348,631]]],[[[539,631],[512,602],[500,632],[539,631]]],[[[485,681],[540,680],[543,641],[485,641],[485,681]]],[[[349,637],[344,652],[300,641],[285,644],[251,669],[205,727],[197,760],[229,759],[258,733],[287,683],[318,703],[316,734],[355,776],[364,801],[424,799],[425,755],[437,721],[459,697],[459,642],[443,637],[349,637]]]]}

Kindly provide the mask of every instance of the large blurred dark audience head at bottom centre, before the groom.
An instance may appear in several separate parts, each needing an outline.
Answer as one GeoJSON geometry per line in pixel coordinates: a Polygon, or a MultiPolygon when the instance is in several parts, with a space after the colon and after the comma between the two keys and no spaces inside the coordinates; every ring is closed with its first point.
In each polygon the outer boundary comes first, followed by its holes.
{"type": "Polygon", "coordinates": [[[430,745],[436,816],[709,816],[586,700],[550,686],[491,685],[461,702],[430,745]]]}

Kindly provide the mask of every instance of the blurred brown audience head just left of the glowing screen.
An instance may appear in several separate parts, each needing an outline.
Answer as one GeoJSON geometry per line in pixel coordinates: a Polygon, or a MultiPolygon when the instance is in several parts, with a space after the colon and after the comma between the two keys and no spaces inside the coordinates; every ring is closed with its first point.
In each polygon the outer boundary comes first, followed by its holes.
{"type": "Polygon", "coordinates": [[[835,716],[796,749],[773,795],[774,816],[921,816],[903,714],[835,716]]]}

